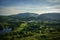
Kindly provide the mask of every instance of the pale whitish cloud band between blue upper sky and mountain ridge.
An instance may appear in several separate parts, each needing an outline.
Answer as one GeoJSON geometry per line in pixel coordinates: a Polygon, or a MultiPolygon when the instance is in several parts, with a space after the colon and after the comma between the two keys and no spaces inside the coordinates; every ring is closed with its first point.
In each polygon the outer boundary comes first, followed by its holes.
{"type": "Polygon", "coordinates": [[[51,12],[60,12],[59,5],[57,6],[17,6],[17,7],[2,7],[0,8],[0,15],[12,15],[24,12],[31,13],[51,13],[51,12]]]}

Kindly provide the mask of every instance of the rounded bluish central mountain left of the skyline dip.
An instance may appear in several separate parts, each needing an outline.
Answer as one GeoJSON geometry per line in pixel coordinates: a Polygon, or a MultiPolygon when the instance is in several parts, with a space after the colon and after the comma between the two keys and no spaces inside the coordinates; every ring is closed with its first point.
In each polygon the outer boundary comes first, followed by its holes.
{"type": "Polygon", "coordinates": [[[18,20],[35,20],[39,15],[35,13],[19,13],[17,15],[11,15],[11,18],[18,20]]]}

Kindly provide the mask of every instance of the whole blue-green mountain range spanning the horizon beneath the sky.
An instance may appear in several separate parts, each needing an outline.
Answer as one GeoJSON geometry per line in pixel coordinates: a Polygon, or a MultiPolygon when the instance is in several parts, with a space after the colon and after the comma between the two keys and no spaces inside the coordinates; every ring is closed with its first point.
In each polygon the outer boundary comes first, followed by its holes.
{"type": "Polygon", "coordinates": [[[36,14],[36,13],[19,13],[11,16],[0,16],[0,21],[2,20],[56,20],[60,21],[60,13],[44,13],[44,14],[36,14]]]}

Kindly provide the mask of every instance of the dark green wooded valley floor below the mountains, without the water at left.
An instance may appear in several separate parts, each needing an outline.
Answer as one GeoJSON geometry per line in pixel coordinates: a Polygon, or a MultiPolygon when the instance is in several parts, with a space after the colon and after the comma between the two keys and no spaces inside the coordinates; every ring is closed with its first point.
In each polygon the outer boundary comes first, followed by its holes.
{"type": "Polygon", "coordinates": [[[12,28],[10,33],[0,34],[0,40],[59,40],[60,23],[49,21],[0,22],[0,30],[12,28]]]}

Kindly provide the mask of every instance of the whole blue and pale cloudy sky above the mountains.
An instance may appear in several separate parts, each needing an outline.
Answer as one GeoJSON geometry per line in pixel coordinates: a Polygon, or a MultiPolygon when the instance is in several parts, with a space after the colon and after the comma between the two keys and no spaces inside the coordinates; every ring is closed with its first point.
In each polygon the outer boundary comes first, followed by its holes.
{"type": "Polygon", "coordinates": [[[0,15],[60,13],[60,0],[0,0],[0,15]]]}

